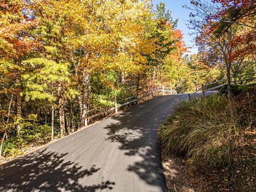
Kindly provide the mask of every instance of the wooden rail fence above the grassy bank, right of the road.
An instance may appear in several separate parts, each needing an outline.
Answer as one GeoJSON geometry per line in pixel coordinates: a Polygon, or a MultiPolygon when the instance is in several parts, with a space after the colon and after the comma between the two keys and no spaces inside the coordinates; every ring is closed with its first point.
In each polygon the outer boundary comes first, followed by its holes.
{"type": "MultiPolygon", "coordinates": [[[[247,74],[242,74],[242,75],[237,75],[236,77],[242,77],[242,76],[245,76],[245,75],[252,75],[252,74],[256,74],[256,72],[252,72],[252,73],[247,73],[247,74]]],[[[231,81],[231,83],[234,83],[234,82],[243,82],[243,81],[252,81],[253,79],[256,79],[256,77],[252,77],[252,78],[246,78],[246,79],[239,79],[239,80],[236,80],[236,77],[234,78],[234,81],[231,81]]],[[[205,97],[205,92],[207,91],[214,91],[214,90],[217,90],[218,88],[222,87],[222,86],[225,86],[227,85],[228,83],[222,83],[220,85],[217,85],[217,86],[214,86],[214,87],[211,87],[209,89],[207,89],[207,86],[210,86],[210,85],[215,85],[215,84],[218,84],[220,82],[225,82],[227,81],[227,78],[223,78],[219,81],[215,81],[215,82],[212,82],[212,83],[209,83],[209,84],[202,84],[202,86],[194,93],[192,94],[188,94],[188,99],[190,99],[191,97],[193,97],[196,93],[198,93],[199,91],[202,91],[203,93],[203,96],[205,97]]]]}

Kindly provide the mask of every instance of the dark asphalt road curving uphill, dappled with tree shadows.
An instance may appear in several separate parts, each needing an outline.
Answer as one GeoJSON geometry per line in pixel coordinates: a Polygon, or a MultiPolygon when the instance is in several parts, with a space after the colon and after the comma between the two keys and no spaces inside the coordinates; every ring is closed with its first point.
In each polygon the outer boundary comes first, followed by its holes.
{"type": "Polygon", "coordinates": [[[157,127],[187,94],[132,107],[0,166],[0,191],[167,191],[157,127]]]}

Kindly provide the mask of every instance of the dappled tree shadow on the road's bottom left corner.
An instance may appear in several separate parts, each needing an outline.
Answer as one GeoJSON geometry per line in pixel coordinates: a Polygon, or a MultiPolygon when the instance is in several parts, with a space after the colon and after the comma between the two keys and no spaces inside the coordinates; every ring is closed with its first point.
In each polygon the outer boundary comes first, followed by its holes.
{"type": "Polygon", "coordinates": [[[36,151],[0,166],[0,191],[95,191],[112,189],[114,182],[83,186],[79,179],[99,171],[92,166],[83,169],[71,161],[65,161],[66,154],[36,151]]]}

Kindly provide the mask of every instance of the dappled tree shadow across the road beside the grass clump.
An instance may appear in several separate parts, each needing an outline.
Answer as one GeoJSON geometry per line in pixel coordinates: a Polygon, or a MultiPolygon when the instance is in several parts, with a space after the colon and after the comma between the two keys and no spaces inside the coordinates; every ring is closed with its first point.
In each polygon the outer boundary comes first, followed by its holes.
{"type": "Polygon", "coordinates": [[[170,111],[156,114],[152,106],[147,107],[148,103],[150,101],[111,117],[114,122],[105,128],[108,130],[107,140],[121,143],[119,149],[124,150],[125,155],[139,156],[142,159],[129,165],[127,170],[139,175],[149,185],[167,191],[156,137],[159,124],[170,115],[170,111]]]}

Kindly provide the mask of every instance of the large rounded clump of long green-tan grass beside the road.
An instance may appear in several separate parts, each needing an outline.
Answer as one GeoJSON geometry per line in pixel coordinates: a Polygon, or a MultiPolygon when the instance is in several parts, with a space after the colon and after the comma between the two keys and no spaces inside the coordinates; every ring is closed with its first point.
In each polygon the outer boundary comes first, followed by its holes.
{"type": "Polygon", "coordinates": [[[242,114],[225,96],[183,102],[159,128],[166,153],[182,154],[193,169],[217,168],[231,162],[240,139],[242,114]]]}

